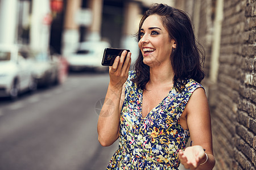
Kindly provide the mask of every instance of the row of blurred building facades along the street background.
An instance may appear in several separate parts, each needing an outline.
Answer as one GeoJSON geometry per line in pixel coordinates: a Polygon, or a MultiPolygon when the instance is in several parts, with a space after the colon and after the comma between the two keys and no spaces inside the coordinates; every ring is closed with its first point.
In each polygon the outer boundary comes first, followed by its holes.
{"type": "Polygon", "coordinates": [[[1,0],[0,43],[65,55],[78,42],[104,40],[135,57],[139,20],[154,2],[174,5],[174,0],[1,0]]]}

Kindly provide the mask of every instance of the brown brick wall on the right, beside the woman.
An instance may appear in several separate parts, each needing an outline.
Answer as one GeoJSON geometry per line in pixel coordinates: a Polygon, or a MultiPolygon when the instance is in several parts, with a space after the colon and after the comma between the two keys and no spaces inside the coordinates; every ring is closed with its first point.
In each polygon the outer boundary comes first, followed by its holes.
{"type": "Polygon", "coordinates": [[[214,16],[216,1],[200,2],[199,41],[207,57],[204,83],[212,114],[214,169],[252,170],[256,165],[256,1],[224,0],[216,83],[209,81],[214,39],[209,12],[214,16]]]}

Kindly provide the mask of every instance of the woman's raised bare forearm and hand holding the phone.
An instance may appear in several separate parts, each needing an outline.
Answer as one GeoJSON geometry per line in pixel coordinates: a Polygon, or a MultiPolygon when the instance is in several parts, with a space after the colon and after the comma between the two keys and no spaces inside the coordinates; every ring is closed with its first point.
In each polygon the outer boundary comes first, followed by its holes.
{"type": "Polygon", "coordinates": [[[128,78],[131,63],[131,53],[123,51],[121,57],[115,58],[109,67],[110,82],[104,105],[98,117],[98,141],[102,146],[112,145],[119,137],[119,117],[124,100],[123,84],[128,78]],[[122,96],[122,97],[121,97],[122,96]]]}

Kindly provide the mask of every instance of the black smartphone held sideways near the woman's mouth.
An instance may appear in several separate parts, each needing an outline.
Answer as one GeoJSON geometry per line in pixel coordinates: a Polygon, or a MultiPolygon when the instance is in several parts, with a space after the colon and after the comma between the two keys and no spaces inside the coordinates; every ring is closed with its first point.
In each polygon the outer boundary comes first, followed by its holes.
{"type": "MultiPolygon", "coordinates": [[[[127,53],[130,52],[130,50],[127,50],[127,49],[105,48],[101,65],[102,66],[112,66],[114,63],[115,57],[117,57],[117,56],[121,57],[123,50],[126,50],[127,53]]],[[[126,56],[125,56],[125,58],[126,58],[126,56]]]]}

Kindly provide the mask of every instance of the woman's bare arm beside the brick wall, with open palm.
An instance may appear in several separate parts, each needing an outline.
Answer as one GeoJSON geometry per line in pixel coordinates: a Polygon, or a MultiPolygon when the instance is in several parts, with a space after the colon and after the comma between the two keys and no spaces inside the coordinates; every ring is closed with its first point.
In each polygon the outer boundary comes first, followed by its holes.
{"type": "Polygon", "coordinates": [[[185,168],[212,169],[215,164],[212,128],[207,96],[203,88],[197,88],[193,92],[186,105],[185,113],[193,146],[187,147],[184,152],[179,151],[180,161],[185,168]]]}

